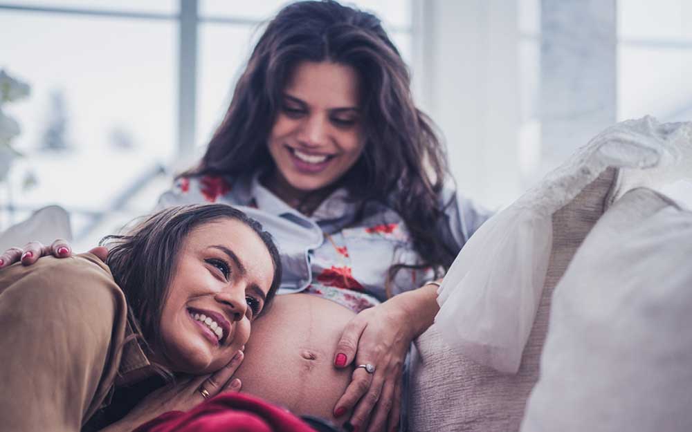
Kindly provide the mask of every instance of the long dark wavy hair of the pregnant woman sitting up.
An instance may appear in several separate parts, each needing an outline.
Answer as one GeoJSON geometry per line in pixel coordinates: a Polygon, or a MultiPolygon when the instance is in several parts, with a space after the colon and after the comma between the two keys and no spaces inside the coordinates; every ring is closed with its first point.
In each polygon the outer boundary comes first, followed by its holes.
{"type": "Polygon", "coordinates": [[[255,46],[199,166],[183,176],[244,176],[273,169],[268,136],[284,86],[300,62],[334,62],[358,73],[365,147],[338,186],[347,188],[361,216],[372,201],[397,211],[421,257],[418,265],[392,265],[385,286],[402,267],[432,267],[439,276],[458,252],[435,229],[449,204],[441,199],[448,178],[444,146],[413,102],[399,51],[370,13],[336,1],[284,7],[255,46]]]}

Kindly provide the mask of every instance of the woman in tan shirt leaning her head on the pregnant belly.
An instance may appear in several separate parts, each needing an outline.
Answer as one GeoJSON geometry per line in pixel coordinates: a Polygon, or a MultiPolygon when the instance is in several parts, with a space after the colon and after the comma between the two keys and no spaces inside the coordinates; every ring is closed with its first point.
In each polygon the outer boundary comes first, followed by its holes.
{"type": "Polygon", "coordinates": [[[188,205],[107,241],[105,263],[82,254],[0,271],[3,430],[79,431],[120,388],[156,387],[152,377],[174,384],[104,430],[240,388],[251,323],[281,280],[271,236],[228,205],[188,205]]]}

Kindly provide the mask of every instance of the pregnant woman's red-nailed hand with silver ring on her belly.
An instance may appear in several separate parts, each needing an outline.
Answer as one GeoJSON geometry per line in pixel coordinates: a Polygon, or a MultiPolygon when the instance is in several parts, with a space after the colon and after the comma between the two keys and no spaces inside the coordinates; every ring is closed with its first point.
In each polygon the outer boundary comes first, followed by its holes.
{"type": "Polygon", "coordinates": [[[426,285],[363,310],[346,326],[334,365],[356,366],[334,415],[353,408],[349,423],[361,432],[396,430],[401,412],[401,374],[411,341],[424,332],[439,310],[437,287],[426,285]],[[359,365],[372,364],[374,373],[359,365]],[[370,421],[368,421],[370,420],[370,421]]]}

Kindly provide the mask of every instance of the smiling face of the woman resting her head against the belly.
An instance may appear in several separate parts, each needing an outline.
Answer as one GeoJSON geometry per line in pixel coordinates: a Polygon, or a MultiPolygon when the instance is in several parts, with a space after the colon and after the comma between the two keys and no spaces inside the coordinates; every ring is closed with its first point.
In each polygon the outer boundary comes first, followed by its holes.
{"type": "Polygon", "coordinates": [[[248,340],[273,276],[262,239],[241,221],[224,218],[193,229],[176,258],[156,360],[196,375],[227,364],[248,340]]]}

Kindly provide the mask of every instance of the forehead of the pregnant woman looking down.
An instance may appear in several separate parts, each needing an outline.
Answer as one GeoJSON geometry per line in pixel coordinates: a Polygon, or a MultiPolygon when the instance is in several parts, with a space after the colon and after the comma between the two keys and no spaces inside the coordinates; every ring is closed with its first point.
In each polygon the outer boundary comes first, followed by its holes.
{"type": "Polygon", "coordinates": [[[325,108],[358,106],[360,80],[351,66],[332,62],[302,62],[293,69],[285,93],[325,108]]]}

